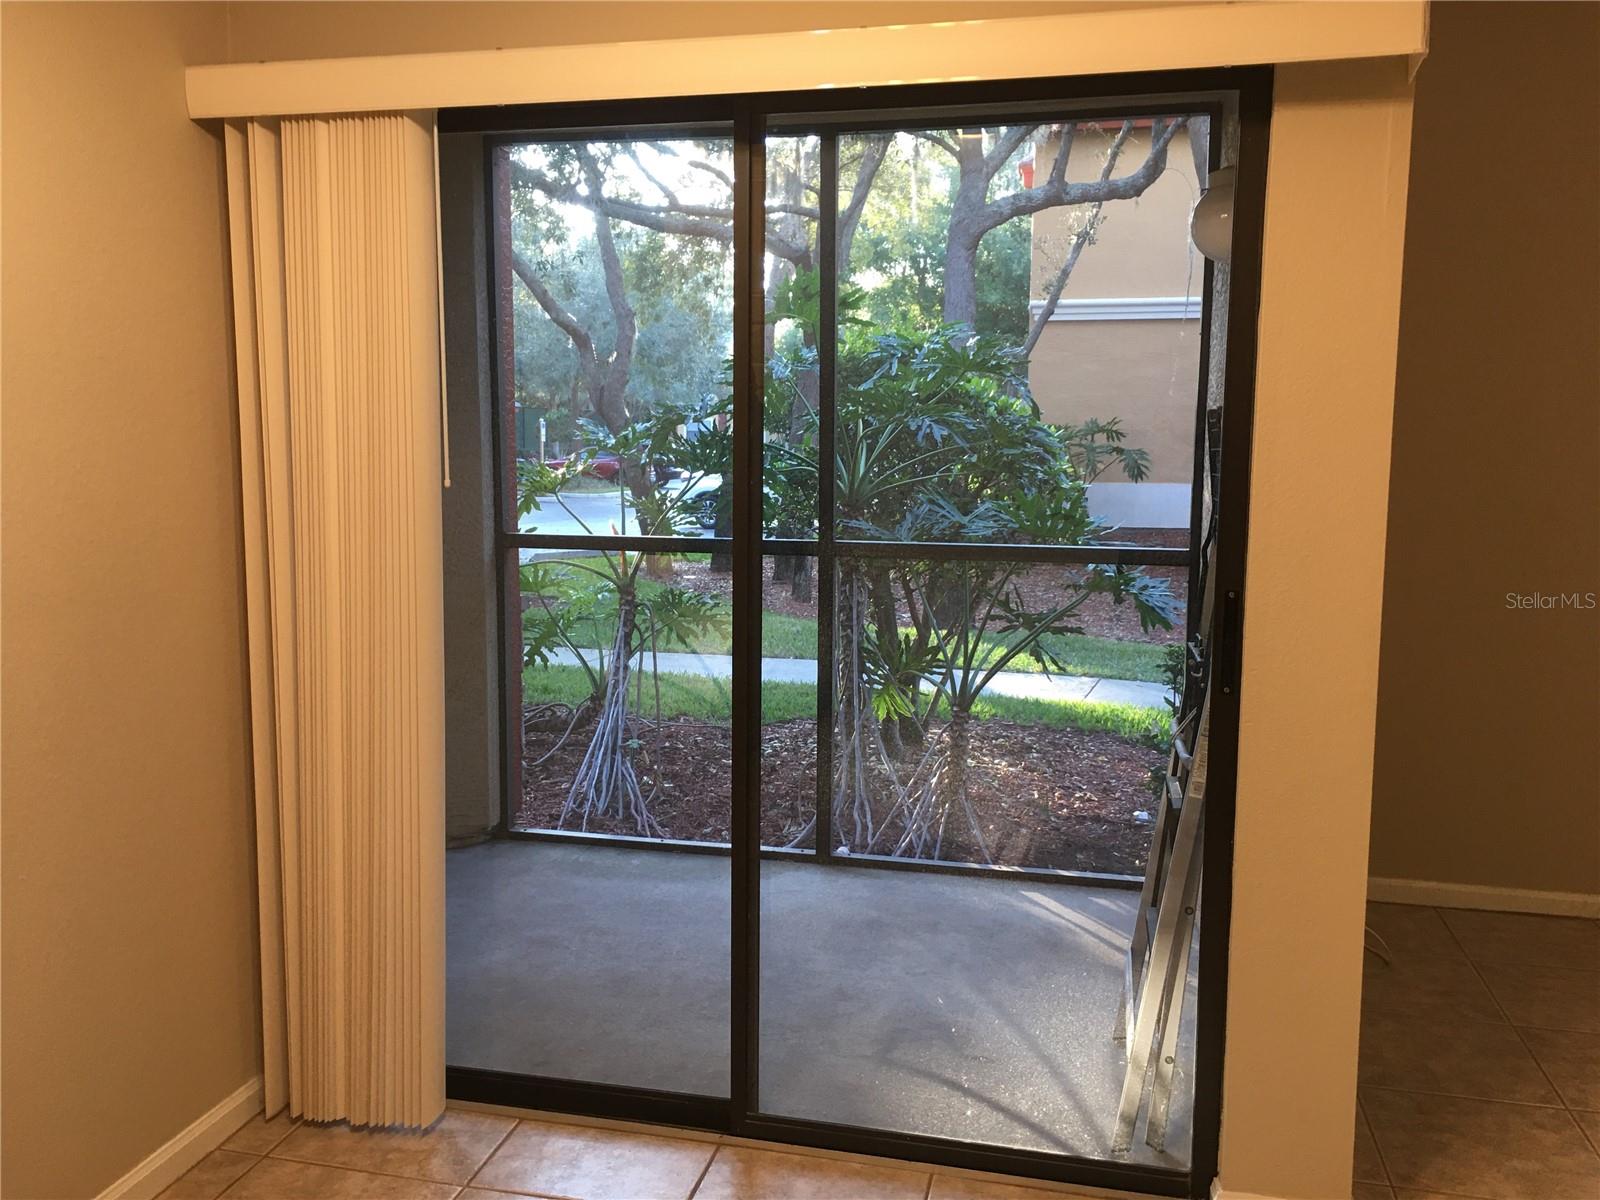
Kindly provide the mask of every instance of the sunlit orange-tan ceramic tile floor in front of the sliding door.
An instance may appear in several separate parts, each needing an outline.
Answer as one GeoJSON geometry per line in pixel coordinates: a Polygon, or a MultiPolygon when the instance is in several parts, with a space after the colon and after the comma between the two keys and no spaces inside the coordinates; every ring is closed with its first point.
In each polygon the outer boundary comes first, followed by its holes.
{"type": "Polygon", "coordinates": [[[426,1134],[259,1117],[162,1200],[1062,1200],[1050,1184],[451,1109],[426,1134]]]}

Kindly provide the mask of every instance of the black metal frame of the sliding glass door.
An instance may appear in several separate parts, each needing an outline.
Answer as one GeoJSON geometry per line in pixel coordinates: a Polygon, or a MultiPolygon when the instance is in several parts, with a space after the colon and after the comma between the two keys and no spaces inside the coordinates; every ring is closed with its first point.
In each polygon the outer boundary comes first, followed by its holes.
{"type": "MultiPolygon", "coordinates": [[[[1272,69],[1230,67],[1218,70],[1139,72],[1125,75],[1080,75],[1066,78],[1006,80],[997,83],[946,83],[859,88],[848,91],[790,91],[739,96],[683,96],[646,101],[602,101],[587,104],[507,106],[478,109],[446,109],[438,114],[442,133],[488,134],[486,142],[550,139],[562,133],[592,136],[605,133],[626,138],[634,133],[661,136],[672,130],[718,134],[733,133],[734,154],[734,462],[733,504],[734,554],[733,589],[733,707],[734,707],[734,776],[733,786],[733,962],[730,1011],[730,1094],[723,1098],[651,1091],[581,1080],[536,1078],[510,1072],[475,1067],[448,1067],[446,1091],[451,1099],[501,1104],[518,1109],[558,1110],[614,1120],[656,1122],[688,1128],[731,1133],[778,1142],[792,1142],[854,1154],[909,1158],[970,1170],[1034,1176],[1091,1187],[1125,1189],[1154,1195],[1208,1195],[1216,1176],[1221,1133],[1222,1053],[1227,1006],[1227,928],[1232,901],[1234,858],[1234,789],[1238,763],[1238,664],[1245,597],[1245,552],[1250,498],[1250,446],[1254,408],[1256,318],[1259,307],[1261,237],[1266,205],[1267,136],[1270,123],[1272,69]],[[1211,766],[1206,795],[1206,835],[1203,846],[1205,918],[1200,922],[1197,1045],[1194,1067],[1194,1133],[1187,1171],[1147,1166],[1130,1162],[1082,1158],[1003,1146],[963,1142],[926,1134],[893,1133],[827,1122],[762,1114],[758,1109],[758,1021],[760,1021],[760,864],[771,858],[760,846],[760,571],[768,554],[818,554],[822,571],[830,574],[832,554],[821,554],[818,544],[786,539],[763,539],[757,514],[762,506],[762,422],[758,405],[763,390],[765,312],[755,298],[763,294],[762,238],[763,221],[752,219],[765,202],[765,136],[768,133],[819,133],[842,130],[898,128],[917,118],[939,122],[986,117],[1040,115],[1053,117],[1118,117],[1149,115],[1158,110],[1184,109],[1213,114],[1213,165],[1221,138],[1216,133],[1222,114],[1221,98],[1237,98],[1238,162],[1237,198],[1232,230],[1232,266],[1227,310],[1227,344],[1224,363],[1224,427],[1221,448],[1221,507],[1218,515],[1216,587],[1218,606],[1211,629],[1211,662],[1214,691],[1211,701],[1211,766]],[[1154,104],[1154,107],[1152,107],[1154,104]],[[747,664],[739,670],[739,664],[747,664]],[[750,667],[755,667],[754,670],[750,667]]],[[[822,138],[822,173],[834,174],[837,154],[827,147],[837,142],[822,138]]],[[[488,170],[490,163],[485,162],[488,170]]],[[[826,182],[826,179],[824,179],[826,182]]],[[[837,195],[821,189],[824,197],[837,195]]],[[[493,229],[494,187],[486,189],[486,221],[493,229]]],[[[829,320],[834,294],[832,203],[821,206],[819,269],[822,274],[821,363],[832,368],[834,322],[829,320]]],[[[493,238],[486,238],[493,242],[493,238]]],[[[490,251],[493,253],[493,251],[490,251]]],[[[493,278],[493,274],[491,274],[493,278]]],[[[1211,267],[1206,264],[1206,304],[1210,317],[1211,267]]],[[[491,331],[498,331],[493,309],[498,304],[491,286],[491,331]]],[[[491,334],[491,341],[493,341],[491,334]]],[[[1198,413],[1203,421],[1206,397],[1205,349],[1198,379],[1198,413]]],[[[499,350],[491,355],[491,389],[499,397],[499,350]]],[[[824,374],[822,395],[827,395],[824,374]]],[[[496,461],[504,470],[506,456],[514,453],[506,427],[509,406],[496,400],[496,461]],[[504,408],[504,411],[502,411],[504,408]]],[[[829,405],[822,405],[829,413],[829,405]]],[[[827,418],[824,416],[824,421],[827,418]]],[[[830,430],[824,429],[827,437],[830,430]]],[[[826,454],[824,454],[826,458],[826,454]]],[[[1197,467],[1202,464],[1197,458],[1197,467]]],[[[821,482],[826,485],[826,480],[821,482]]],[[[1200,475],[1195,475],[1195,490],[1200,475]]],[[[830,499],[830,488],[824,486],[830,499]]],[[[506,536],[504,486],[494,488],[496,534],[501,592],[509,611],[515,611],[518,539],[506,536]],[[507,570],[509,566],[509,570],[507,570]]],[[[1194,534],[1194,526],[1192,526],[1194,534]]],[[[819,542],[832,541],[832,526],[819,520],[819,542]]],[[[522,539],[530,541],[530,539],[522,539]]],[[[538,538],[539,544],[560,539],[538,538]]],[[[584,546],[605,544],[611,549],[651,550],[683,549],[677,538],[600,538],[578,539],[584,546]]],[[[1197,539],[1192,536],[1192,542],[1197,539]]],[[[694,539],[698,549],[718,544],[694,539]]],[[[872,552],[870,547],[854,547],[872,552]]],[[[1048,557],[1056,562],[1107,562],[1106,547],[1058,547],[1040,555],[1040,547],[1021,557],[1048,557]]],[[[1006,547],[982,547],[986,557],[1003,557],[1006,547]],[[995,554],[998,550],[1000,554],[995,554]]],[[[1190,544],[1182,558],[1192,571],[1200,547],[1190,544]]],[[[971,547],[949,547],[952,555],[970,554],[971,547]]],[[[1166,555],[1126,552],[1123,562],[1157,562],[1166,555]]],[[[819,613],[829,578],[819,578],[819,613]]],[[[1190,590],[1190,613],[1195,594],[1190,590]]],[[[827,622],[819,621],[819,629],[827,622]]],[[[502,629],[502,664],[507,678],[502,688],[510,694],[509,680],[520,680],[520,629],[502,629]]],[[[517,742],[510,731],[520,728],[520,712],[504,717],[502,744],[512,765],[517,742]],[[515,722],[515,723],[514,723],[515,722]]],[[[819,774],[822,762],[819,762],[819,774]]],[[[507,832],[507,830],[501,830],[507,832]]],[[[819,843],[821,845],[821,843],[819,843]]],[[[1104,877],[1102,877],[1104,878],[1104,877]]],[[[1090,880],[1075,880],[1090,882],[1090,880]]]]}

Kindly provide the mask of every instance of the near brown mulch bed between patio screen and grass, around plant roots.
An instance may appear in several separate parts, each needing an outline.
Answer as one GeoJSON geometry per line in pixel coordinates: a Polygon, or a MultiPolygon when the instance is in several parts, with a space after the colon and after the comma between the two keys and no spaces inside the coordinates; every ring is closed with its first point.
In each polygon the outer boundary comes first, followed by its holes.
{"type": "MultiPolygon", "coordinates": [[[[730,840],[731,731],[691,718],[637,730],[635,770],[656,786],[654,818],[670,838],[730,840]]],[[[587,749],[570,738],[554,754],[554,734],[525,739],[520,829],[554,829],[573,773],[587,749]],[[544,762],[538,762],[549,754],[544,762]]],[[[979,722],[971,734],[970,794],[995,864],[1138,875],[1152,826],[1150,768],[1163,757],[1112,733],[979,722]]],[[[762,730],[762,842],[787,845],[816,805],[816,722],[790,720],[762,730]]],[[[979,862],[965,821],[947,827],[941,858],[979,862]]],[[[568,822],[568,829],[576,827],[568,822]]],[[[606,818],[590,832],[627,834],[632,822],[606,818]]],[[[798,845],[810,846],[810,840],[798,845]]]]}

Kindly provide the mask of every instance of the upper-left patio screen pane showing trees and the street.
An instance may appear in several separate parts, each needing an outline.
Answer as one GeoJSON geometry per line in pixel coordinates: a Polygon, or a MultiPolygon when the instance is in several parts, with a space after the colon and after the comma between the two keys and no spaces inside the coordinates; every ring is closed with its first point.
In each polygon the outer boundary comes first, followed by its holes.
{"type": "Polygon", "coordinates": [[[733,144],[498,152],[507,458],[523,533],[710,533],[728,475],[733,144]]]}

